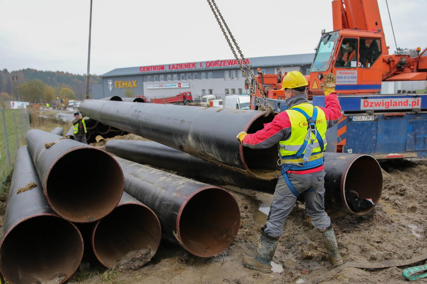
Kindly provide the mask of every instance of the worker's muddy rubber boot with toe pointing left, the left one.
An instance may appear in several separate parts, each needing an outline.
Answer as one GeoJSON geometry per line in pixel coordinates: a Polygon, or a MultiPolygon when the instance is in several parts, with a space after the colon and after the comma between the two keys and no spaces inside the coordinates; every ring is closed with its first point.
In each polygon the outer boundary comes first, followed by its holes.
{"type": "Polygon", "coordinates": [[[275,255],[278,240],[279,238],[270,237],[261,229],[257,254],[253,258],[248,256],[243,257],[241,260],[243,266],[263,273],[270,273],[270,263],[275,255]]]}

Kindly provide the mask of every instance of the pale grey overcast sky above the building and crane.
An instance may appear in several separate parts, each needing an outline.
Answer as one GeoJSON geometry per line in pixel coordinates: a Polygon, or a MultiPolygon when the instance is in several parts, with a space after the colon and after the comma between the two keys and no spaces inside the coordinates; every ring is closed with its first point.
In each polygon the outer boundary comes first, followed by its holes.
{"type": "MultiPolygon", "coordinates": [[[[399,47],[427,46],[427,1],[387,0],[399,47]]],[[[216,0],[245,57],[314,53],[330,0],[216,0]]],[[[390,53],[386,0],[378,0],[390,53]]],[[[0,69],[87,73],[90,0],[0,0],[0,69]]],[[[90,74],[234,58],[206,0],[93,0],[90,74]]]]}

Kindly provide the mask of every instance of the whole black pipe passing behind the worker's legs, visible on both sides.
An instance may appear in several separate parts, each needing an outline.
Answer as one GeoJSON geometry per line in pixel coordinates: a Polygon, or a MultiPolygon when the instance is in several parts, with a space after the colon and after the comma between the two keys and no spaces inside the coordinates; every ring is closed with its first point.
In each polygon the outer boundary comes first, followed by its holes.
{"type": "MultiPolygon", "coordinates": [[[[239,174],[180,152],[154,141],[112,139],[105,150],[121,158],[150,166],[173,170],[192,177],[204,177],[241,188],[274,193],[276,181],[264,181],[239,174]]],[[[351,214],[364,215],[367,210],[355,211],[347,204],[349,191],[359,198],[372,198],[378,203],[382,191],[382,173],[377,160],[363,154],[338,154],[325,152],[325,207],[351,214]]]]}

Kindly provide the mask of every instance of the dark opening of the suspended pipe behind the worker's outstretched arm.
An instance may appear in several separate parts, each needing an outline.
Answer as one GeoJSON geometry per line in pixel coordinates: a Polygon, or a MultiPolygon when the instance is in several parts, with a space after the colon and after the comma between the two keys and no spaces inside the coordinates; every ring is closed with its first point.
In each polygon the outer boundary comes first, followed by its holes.
{"type": "MultiPolygon", "coordinates": [[[[249,127],[248,133],[255,133],[264,127],[265,123],[271,122],[272,116],[257,118],[249,127]]],[[[275,144],[268,149],[251,149],[248,147],[243,148],[244,162],[248,168],[257,175],[263,176],[266,172],[272,172],[279,170],[280,167],[277,165],[278,148],[275,144]]],[[[277,176],[275,176],[276,178],[277,176]]]]}

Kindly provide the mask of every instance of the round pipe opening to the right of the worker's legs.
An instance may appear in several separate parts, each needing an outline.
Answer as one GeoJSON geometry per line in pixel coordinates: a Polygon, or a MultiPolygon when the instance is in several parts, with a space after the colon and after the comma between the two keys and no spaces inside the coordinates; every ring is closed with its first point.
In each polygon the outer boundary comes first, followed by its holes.
{"type": "MultiPolygon", "coordinates": [[[[382,172],[377,160],[371,156],[360,156],[355,159],[345,173],[342,190],[341,196],[346,197],[344,199],[372,199],[374,204],[377,204],[382,190],[382,172]]],[[[355,210],[348,200],[343,202],[354,214],[366,214],[374,208],[355,210]]]]}

